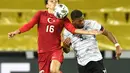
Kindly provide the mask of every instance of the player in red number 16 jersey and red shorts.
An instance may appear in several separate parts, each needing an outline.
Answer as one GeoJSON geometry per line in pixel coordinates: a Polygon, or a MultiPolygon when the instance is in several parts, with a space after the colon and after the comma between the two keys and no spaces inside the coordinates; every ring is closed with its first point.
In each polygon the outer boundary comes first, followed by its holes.
{"type": "Polygon", "coordinates": [[[37,24],[39,73],[61,73],[60,66],[63,62],[63,52],[60,35],[63,27],[73,34],[98,34],[100,32],[75,29],[67,17],[58,19],[53,15],[54,8],[59,0],[45,0],[45,2],[47,11],[38,11],[27,24],[8,33],[8,37],[12,38],[17,34],[24,33],[37,24]]]}

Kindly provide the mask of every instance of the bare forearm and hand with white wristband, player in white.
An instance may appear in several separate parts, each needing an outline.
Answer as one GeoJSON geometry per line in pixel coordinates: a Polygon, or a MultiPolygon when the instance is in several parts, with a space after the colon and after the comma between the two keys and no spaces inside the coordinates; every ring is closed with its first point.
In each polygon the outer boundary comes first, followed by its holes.
{"type": "MultiPolygon", "coordinates": [[[[103,28],[103,27],[102,27],[103,28]]],[[[120,44],[118,43],[116,37],[108,30],[103,28],[103,35],[105,35],[113,44],[115,44],[116,47],[116,58],[119,59],[121,53],[122,53],[122,48],[120,44]]]]}

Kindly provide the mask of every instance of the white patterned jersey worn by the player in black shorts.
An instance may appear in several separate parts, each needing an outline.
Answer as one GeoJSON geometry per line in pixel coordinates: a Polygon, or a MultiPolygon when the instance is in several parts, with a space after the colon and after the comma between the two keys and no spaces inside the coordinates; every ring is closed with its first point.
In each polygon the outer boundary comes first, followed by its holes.
{"type": "MultiPolygon", "coordinates": [[[[93,20],[85,20],[84,30],[100,30],[101,25],[93,20]]],[[[99,61],[102,55],[97,45],[95,35],[81,35],[71,34],[66,29],[63,32],[64,39],[69,37],[71,39],[71,47],[75,51],[78,64],[85,66],[90,61],[99,61]]]]}

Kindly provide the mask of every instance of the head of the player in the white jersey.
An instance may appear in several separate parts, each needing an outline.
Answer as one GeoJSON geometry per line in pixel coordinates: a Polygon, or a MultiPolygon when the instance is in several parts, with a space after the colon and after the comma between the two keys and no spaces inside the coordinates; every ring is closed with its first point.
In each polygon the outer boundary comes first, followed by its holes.
{"type": "Polygon", "coordinates": [[[84,14],[80,10],[73,10],[71,12],[72,23],[76,28],[84,27],[84,14]]]}

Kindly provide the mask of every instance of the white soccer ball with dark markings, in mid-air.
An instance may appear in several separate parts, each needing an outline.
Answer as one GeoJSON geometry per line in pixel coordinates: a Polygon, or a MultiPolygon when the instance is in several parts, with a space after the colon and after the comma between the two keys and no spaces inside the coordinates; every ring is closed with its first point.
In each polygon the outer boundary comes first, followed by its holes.
{"type": "Polygon", "coordinates": [[[69,13],[69,10],[64,4],[57,4],[54,9],[54,16],[59,19],[63,19],[69,13]]]}

